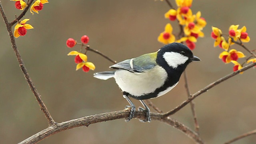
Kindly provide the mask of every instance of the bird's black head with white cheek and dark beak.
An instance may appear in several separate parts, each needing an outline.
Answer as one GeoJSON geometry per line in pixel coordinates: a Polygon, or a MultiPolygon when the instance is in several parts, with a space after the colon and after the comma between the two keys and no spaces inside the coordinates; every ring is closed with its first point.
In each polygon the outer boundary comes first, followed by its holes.
{"type": "Polygon", "coordinates": [[[171,43],[163,46],[158,50],[156,62],[163,68],[176,69],[178,66],[184,67],[192,61],[201,61],[200,58],[194,56],[192,51],[181,43],[171,43]]]}

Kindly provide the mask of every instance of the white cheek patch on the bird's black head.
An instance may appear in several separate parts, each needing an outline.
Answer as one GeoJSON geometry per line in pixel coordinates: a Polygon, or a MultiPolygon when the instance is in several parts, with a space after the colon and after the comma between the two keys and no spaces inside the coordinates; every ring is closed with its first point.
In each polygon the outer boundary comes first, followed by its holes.
{"type": "Polygon", "coordinates": [[[183,56],[177,52],[165,52],[163,58],[172,68],[177,68],[178,65],[184,64],[188,60],[187,56],[183,56]]]}

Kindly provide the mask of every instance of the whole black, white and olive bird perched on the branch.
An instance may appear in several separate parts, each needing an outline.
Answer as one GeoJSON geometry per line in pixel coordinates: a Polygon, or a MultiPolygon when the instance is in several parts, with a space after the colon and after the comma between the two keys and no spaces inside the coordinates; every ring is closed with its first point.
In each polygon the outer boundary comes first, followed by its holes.
{"type": "Polygon", "coordinates": [[[115,71],[97,72],[94,77],[101,80],[115,78],[123,91],[123,97],[130,104],[126,106],[131,108],[126,122],[135,114],[135,106],[129,97],[140,100],[144,106],[138,110],[146,113],[146,120],[140,121],[150,122],[150,109],[143,100],[162,96],[172,90],[192,61],[201,60],[187,46],[174,42],[163,46],[157,52],[118,62],[109,67],[115,71]]]}

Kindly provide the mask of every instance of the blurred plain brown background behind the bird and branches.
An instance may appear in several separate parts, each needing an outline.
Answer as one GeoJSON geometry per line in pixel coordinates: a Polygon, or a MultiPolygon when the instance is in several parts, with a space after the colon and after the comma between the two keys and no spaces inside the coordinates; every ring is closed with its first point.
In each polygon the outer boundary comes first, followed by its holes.
{"type": "MultiPolygon", "coordinates": [[[[94,72],[108,70],[112,63],[88,52],[88,61],[96,65],[88,73],[75,70],[74,56],[66,40],[88,35],[91,48],[97,49],[118,61],[154,52],[163,44],[157,41],[164,26],[170,22],[164,13],[170,8],[166,2],[154,0],[49,0],[39,14],[27,12],[28,24],[34,26],[26,36],[16,38],[16,44],[25,66],[56,122],[80,118],[92,114],[123,110],[128,102],[114,79],[103,81],[93,78],[94,72]]],[[[176,6],[174,0],[170,2],[176,6]]],[[[19,15],[14,2],[2,0],[9,21],[19,15]]],[[[256,1],[194,0],[192,12],[202,12],[207,21],[204,38],[198,38],[193,53],[201,58],[187,68],[191,93],[204,88],[215,80],[230,74],[233,64],[224,64],[218,55],[222,50],[214,48],[210,37],[211,26],[228,33],[231,24],[247,27],[251,38],[246,43],[255,49],[256,1]]],[[[2,18],[1,18],[2,19],[2,18]]],[[[174,34],[176,22],[171,22],[174,34]]],[[[14,29],[14,27],[13,27],[14,29]]],[[[30,91],[11,48],[3,20],[0,21],[0,140],[2,144],[15,144],[47,128],[38,102],[30,91]]],[[[238,46],[237,50],[249,55],[238,46]]],[[[242,61],[240,61],[242,62],[242,61]]],[[[200,136],[207,144],[224,143],[244,132],[256,129],[256,71],[247,70],[194,100],[200,125],[200,136]]],[[[171,92],[152,102],[167,112],[187,99],[184,77],[171,92]]],[[[136,107],[141,106],[132,100],[136,107]]],[[[153,108],[151,108],[154,112],[153,108]]],[[[190,106],[172,115],[194,130],[190,106]]],[[[158,121],[141,123],[124,119],[92,124],[54,134],[40,144],[193,144],[193,140],[171,126],[158,121]]],[[[234,144],[255,144],[256,136],[250,136],[234,144]]]]}

